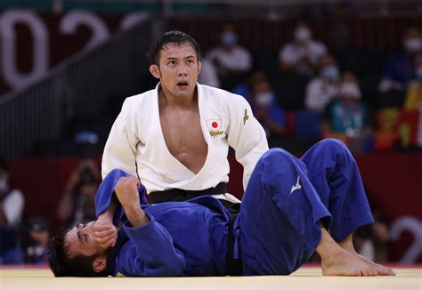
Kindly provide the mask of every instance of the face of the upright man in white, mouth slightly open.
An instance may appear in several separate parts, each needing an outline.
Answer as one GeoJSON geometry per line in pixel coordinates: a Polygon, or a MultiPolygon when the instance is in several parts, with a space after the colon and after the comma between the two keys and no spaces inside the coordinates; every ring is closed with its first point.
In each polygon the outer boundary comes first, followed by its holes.
{"type": "Polygon", "coordinates": [[[190,44],[166,44],[159,55],[159,66],[151,65],[150,73],[159,78],[164,93],[186,98],[194,93],[200,69],[198,55],[190,44]]]}

